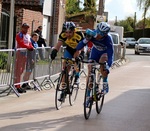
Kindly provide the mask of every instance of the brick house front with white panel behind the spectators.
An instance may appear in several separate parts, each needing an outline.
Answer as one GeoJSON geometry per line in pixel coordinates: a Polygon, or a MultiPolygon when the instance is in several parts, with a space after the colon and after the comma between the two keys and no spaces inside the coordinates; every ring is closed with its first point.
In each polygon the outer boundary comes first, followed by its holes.
{"type": "MultiPolygon", "coordinates": [[[[1,7],[10,13],[10,1],[2,0],[1,7]]],[[[21,29],[22,23],[30,25],[29,34],[43,26],[43,37],[48,46],[57,43],[65,20],[65,0],[15,0],[14,39],[21,29]]],[[[8,22],[9,23],[9,22],[8,22]]],[[[9,24],[8,24],[9,25],[9,24]]]]}

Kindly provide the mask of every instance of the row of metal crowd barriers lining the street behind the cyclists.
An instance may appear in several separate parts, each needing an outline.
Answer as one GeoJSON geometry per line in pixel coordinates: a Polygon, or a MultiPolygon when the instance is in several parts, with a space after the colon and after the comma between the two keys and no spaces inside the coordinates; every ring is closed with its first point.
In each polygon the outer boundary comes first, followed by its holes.
{"type": "MultiPolygon", "coordinates": [[[[53,62],[50,59],[51,51],[51,47],[37,48],[33,51],[21,48],[0,50],[0,94],[8,91],[8,95],[13,90],[19,97],[16,88],[26,82],[32,83],[39,91],[42,90],[45,81],[54,86],[51,76],[62,69],[60,57],[63,55],[64,48],[60,49],[53,62]]],[[[125,48],[114,45],[114,64],[118,64],[122,58],[125,58],[125,48]]]]}

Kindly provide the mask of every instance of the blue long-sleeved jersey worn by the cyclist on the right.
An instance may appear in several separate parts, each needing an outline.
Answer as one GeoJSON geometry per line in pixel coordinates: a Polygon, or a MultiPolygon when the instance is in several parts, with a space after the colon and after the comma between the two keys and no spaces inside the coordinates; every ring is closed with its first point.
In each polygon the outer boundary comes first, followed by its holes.
{"type": "MultiPolygon", "coordinates": [[[[107,53],[108,56],[108,65],[109,67],[111,66],[112,62],[113,62],[113,53],[114,53],[114,49],[113,49],[113,40],[110,34],[108,34],[107,36],[105,36],[104,38],[98,40],[94,37],[91,38],[90,40],[93,43],[93,47],[91,49],[91,52],[93,53],[93,55],[95,55],[95,57],[101,57],[101,55],[103,53],[107,53]],[[98,55],[98,56],[96,56],[98,55]]],[[[77,50],[81,50],[86,44],[82,41],[79,42],[78,46],[76,47],[77,50]]],[[[96,61],[98,61],[96,59],[96,61]]]]}

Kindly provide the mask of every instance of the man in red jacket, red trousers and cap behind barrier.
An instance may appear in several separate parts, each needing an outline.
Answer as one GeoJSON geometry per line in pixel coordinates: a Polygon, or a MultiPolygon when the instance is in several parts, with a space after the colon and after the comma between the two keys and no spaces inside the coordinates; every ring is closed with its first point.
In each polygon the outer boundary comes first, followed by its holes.
{"type": "MultiPolygon", "coordinates": [[[[28,34],[29,25],[22,24],[21,31],[16,35],[16,48],[26,48],[29,51],[33,50],[32,43],[30,41],[30,35],[28,34]]],[[[15,63],[15,87],[19,93],[25,93],[26,90],[20,86],[21,75],[25,69],[27,60],[27,53],[25,50],[17,50],[16,63],[15,63]]]]}

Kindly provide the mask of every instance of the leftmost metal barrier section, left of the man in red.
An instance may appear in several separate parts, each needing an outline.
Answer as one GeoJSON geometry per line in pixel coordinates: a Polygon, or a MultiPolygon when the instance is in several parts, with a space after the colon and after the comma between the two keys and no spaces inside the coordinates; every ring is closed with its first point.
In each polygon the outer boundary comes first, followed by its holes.
{"type": "Polygon", "coordinates": [[[13,90],[17,96],[19,93],[13,85],[13,69],[14,69],[14,52],[13,49],[0,50],[0,94],[9,95],[13,90]]]}

